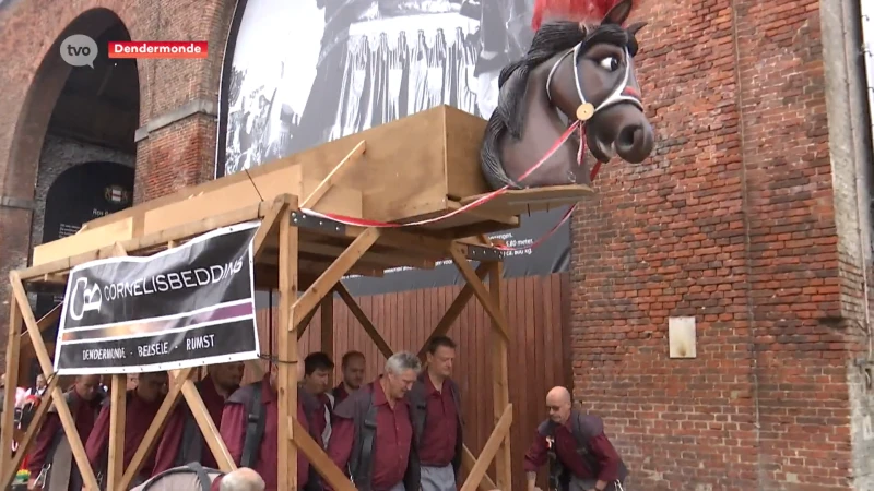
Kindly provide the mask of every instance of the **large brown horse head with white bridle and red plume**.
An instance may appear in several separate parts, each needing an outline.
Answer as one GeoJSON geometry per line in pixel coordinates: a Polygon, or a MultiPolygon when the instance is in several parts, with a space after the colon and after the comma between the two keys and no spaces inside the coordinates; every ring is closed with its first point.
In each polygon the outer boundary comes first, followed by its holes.
{"type": "Polygon", "coordinates": [[[646,23],[624,26],[631,8],[633,0],[538,0],[531,48],[498,79],[481,148],[489,185],[589,184],[587,146],[595,169],[616,155],[639,164],[652,153],[634,65],[646,23]]]}

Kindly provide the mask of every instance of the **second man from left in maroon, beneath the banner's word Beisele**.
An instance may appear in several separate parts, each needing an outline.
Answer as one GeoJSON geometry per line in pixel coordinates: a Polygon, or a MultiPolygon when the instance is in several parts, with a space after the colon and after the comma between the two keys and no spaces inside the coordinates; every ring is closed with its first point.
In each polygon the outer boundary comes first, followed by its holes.
{"type": "MultiPolygon", "coordinates": [[[[155,419],[161,403],[167,393],[167,372],[140,373],[137,388],[126,392],[125,414],[125,452],[123,466],[128,467],[137,447],[145,435],[152,420],[155,419]]],[[[94,429],[85,443],[85,453],[91,467],[97,474],[97,479],[105,482],[106,466],[109,452],[109,400],[105,399],[101,416],[94,423],[94,429]]],[[[132,486],[139,486],[150,477],[155,465],[155,453],[152,451],[143,462],[140,474],[133,479],[132,486]]]]}

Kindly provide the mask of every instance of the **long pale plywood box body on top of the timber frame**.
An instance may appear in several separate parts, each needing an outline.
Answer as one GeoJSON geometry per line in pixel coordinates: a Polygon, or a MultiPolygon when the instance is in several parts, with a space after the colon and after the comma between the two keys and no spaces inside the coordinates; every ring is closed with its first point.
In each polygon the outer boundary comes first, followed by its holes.
{"type": "MultiPolygon", "coordinates": [[[[286,194],[299,197],[302,211],[387,223],[439,217],[491,191],[480,167],[485,124],[485,120],[448,106],[423,111],[95,219],[75,236],[37,246],[33,265],[44,266],[286,194]]],[[[586,187],[512,191],[474,211],[415,227],[415,232],[458,239],[512,229],[519,226],[522,213],[566,205],[589,194],[586,187]]],[[[305,242],[317,252],[323,247],[343,247],[323,239],[305,242]]],[[[405,259],[387,263],[378,254],[374,258],[374,264],[386,266],[378,272],[410,265],[405,259]]]]}

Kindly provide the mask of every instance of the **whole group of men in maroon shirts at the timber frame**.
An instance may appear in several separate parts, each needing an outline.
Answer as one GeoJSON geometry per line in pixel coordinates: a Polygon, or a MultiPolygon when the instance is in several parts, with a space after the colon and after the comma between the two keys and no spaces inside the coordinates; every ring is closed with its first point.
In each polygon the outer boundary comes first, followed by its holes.
{"type": "MultiPolygon", "coordinates": [[[[365,383],[365,357],[341,360],[342,381],[330,386],[334,362],[312,352],[298,366],[297,420],[362,491],[456,491],[462,456],[461,391],[452,380],[456,344],[446,336],[427,346],[423,369],[406,351],[391,356],[375,381],[365,383]]],[[[261,381],[239,386],[244,363],[210,366],[197,382],[210,417],[238,470],[222,476],[191,411],[180,403],[145,458],[134,490],[275,491],[277,484],[279,364],[261,381]]],[[[168,388],[166,372],[142,373],[126,393],[123,466],[127,469],[168,388]]],[[[75,428],[102,486],[109,443],[109,398],[99,376],[82,375],[66,393],[75,428]]],[[[619,490],[625,468],[604,436],[600,418],[571,409],[564,387],[547,395],[550,419],[525,455],[528,491],[550,457],[564,491],[619,490]]],[[[29,489],[80,491],[83,482],[54,408],[28,455],[29,489]]],[[[299,490],[332,491],[303,452],[299,490]]],[[[557,488],[556,488],[557,491],[557,488]]]]}

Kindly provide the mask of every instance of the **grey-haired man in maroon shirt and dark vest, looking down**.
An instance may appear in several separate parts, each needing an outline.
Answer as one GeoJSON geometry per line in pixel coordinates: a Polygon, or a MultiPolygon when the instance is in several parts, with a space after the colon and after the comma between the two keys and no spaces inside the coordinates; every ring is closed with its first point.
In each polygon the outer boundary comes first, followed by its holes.
{"type": "Polygon", "coordinates": [[[361,491],[420,489],[417,435],[405,396],[421,368],[415,355],[397,352],[382,376],[334,409],[328,456],[361,491]]]}

